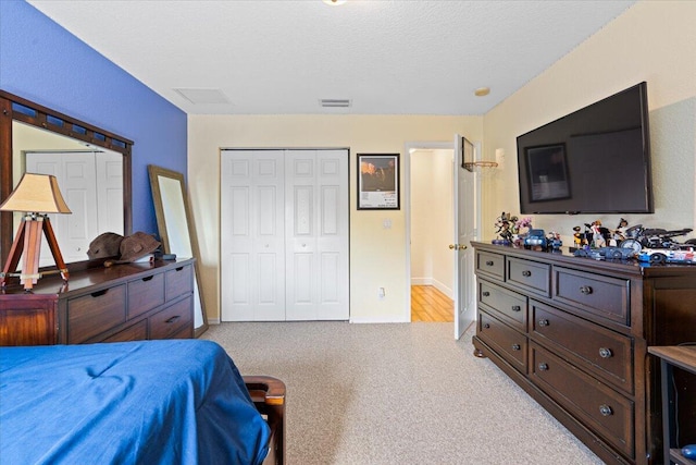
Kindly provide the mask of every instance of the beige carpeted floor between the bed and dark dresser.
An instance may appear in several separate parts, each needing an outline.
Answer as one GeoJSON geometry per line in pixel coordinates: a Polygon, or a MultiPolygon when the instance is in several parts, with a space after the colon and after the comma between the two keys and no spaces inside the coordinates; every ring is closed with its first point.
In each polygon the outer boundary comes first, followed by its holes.
{"type": "Polygon", "coordinates": [[[289,465],[602,463],[451,323],[222,323],[202,339],[285,381],[289,465]]]}

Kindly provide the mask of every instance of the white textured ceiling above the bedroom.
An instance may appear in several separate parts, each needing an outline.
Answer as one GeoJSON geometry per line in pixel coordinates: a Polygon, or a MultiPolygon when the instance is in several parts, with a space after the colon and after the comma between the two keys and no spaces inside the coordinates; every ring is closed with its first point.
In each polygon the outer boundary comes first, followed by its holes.
{"type": "Polygon", "coordinates": [[[28,2],[190,114],[483,114],[634,3],[28,2]]]}

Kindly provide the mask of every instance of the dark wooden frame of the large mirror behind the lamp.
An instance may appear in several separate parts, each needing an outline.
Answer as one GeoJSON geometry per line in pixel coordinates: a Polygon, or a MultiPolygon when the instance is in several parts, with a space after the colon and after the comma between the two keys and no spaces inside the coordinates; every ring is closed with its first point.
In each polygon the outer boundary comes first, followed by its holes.
{"type": "MultiPolygon", "coordinates": [[[[133,185],[130,166],[133,140],[101,127],[85,123],[59,111],[0,90],[0,203],[12,194],[14,187],[12,171],[12,121],[83,140],[123,155],[123,230],[124,235],[133,233],[133,185]]],[[[14,236],[12,212],[0,212],[0,262],[10,255],[14,236]]],[[[67,264],[69,270],[88,268],[91,261],[67,264]]]]}

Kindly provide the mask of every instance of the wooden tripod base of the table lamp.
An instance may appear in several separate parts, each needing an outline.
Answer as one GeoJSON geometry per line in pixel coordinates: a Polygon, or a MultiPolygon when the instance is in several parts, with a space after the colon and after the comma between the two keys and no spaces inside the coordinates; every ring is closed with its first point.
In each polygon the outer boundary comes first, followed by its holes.
{"type": "Polygon", "coordinates": [[[39,256],[41,254],[41,235],[46,235],[46,241],[51,249],[58,271],[61,273],[63,281],[67,281],[70,274],[63,260],[63,255],[58,247],[55,234],[51,221],[46,215],[27,215],[22,219],[22,224],[14,236],[14,242],[10,248],[8,261],[4,264],[2,274],[0,274],[0,286],[4,287],[8,277],[20,277],[20,283],[24,285],[25,291],[30,291],[41,278],[39,272],[39,256]],[[24,255],[22,260],[22,272],[16,273],[20,257],[24,255]]]}

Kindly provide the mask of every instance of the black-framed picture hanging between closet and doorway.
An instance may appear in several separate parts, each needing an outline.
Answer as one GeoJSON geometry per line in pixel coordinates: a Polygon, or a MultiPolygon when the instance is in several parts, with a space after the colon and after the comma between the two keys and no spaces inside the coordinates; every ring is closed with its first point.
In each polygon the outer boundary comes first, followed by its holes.
{"type": "Polygon", "coordinates": [[[398,210],[399,154],[358,154],[358,210],[398,210]]]}

